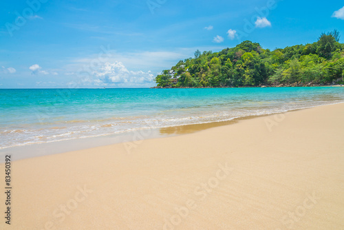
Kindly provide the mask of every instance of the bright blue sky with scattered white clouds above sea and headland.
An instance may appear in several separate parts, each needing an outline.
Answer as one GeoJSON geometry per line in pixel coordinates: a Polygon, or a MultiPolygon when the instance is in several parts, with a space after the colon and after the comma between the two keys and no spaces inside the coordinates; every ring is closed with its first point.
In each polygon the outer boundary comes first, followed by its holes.
{"type": "Polygon", "coordinates": [[[1,1],[0,88],[153,87],[195,50],[275,50],[334,29],[343,1],[1,1]]]}

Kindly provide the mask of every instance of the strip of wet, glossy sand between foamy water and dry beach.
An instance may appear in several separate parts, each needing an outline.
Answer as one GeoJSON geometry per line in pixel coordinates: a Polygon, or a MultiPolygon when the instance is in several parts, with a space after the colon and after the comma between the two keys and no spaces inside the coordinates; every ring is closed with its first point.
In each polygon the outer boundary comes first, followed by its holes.
{"type": "MultiPolygon", "coordinates": [[[[344,102],[340,102],[344,103],[344,102]]],[[[340,104],[339,103],[339,104],[340,104]]],[[[338,103],[327,104],[336,105],[338,103]]],[[[266,116],[279,116],[287,112],[296,112],[302,109],[310,109],[313,107],[321,107],[325,105],[315,105],[310,107],[301,107],[297,109],[290,109],[284,112],[277,112],[272,114],[259,114],[240,116],[230,118],[225,121],[211,121],[208,123],[195,123],[186,125],[173,125],[168,127],[149,127],[148,129],[138,129],[129,132],[122,132],[120,134],[104,134],[100,136],[89,136],[85,138],[72,138],[67,140],[56,140],[47,143],[32,143],[25,145],[18,145],[14,147],[6,147],[0,149],[0,157],[11,154],[12,160],[23,160],[26,158],[36,158],[40,156],[49,156],[54,154],[63,154],[69,151],[81,151],[95,147],[103,147],[107,145],[115,145],[122,143],[138,143],[144,140],[155,138],[166,138],[171,136],[180,136],[184,134],[192,134],[200,132],[205,129],[214,127],[221,127],[232,125],[239,121],[249,120],[253,118],[266,117],[266,116]]],[[[0,161],[1,162],[1,161],[0,161]]]]}

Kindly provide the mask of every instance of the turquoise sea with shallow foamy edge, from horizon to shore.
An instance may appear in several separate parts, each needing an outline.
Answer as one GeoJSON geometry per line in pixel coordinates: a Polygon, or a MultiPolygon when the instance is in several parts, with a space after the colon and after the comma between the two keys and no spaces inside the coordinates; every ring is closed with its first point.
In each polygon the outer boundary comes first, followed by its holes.
{"type": "Polygon", "coordinates": [[[0,149],[344,102],[344,87],[0,90],[0,149]]]}

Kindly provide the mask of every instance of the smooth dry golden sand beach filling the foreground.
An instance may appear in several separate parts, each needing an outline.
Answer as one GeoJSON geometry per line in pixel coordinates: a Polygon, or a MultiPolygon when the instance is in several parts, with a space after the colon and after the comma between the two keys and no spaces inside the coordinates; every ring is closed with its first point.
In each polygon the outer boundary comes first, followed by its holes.
{"type": "Polygon", "coordinates": [[[0,229],[344,229],[343,118],[325,105],[17,160],[0,229]]]}

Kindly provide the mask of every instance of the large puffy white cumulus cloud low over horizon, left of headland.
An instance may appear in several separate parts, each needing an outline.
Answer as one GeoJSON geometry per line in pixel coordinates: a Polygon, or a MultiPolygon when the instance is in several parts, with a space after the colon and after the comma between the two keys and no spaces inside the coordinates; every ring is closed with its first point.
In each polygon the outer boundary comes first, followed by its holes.
{"type": "Polygon", "coordinates": [[[99,70],[94,72],[96,79],[94,83],[101,85],[102,83],[152,83],[153,74],[150,71],[130,71],[121,63],[105,63],[99,70]]]}

